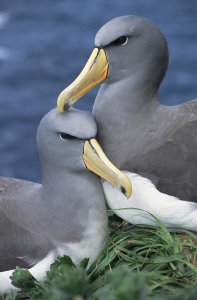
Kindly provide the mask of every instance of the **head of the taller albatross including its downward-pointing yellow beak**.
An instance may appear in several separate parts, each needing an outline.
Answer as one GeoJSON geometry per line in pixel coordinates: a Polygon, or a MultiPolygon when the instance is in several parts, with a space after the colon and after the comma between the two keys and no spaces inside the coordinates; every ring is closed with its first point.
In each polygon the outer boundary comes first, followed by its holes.
{"type": "Polygon", "coordinates": [[[156,93],[168,65],[163,34],[149,20],[122,16],[106,23],[96,34],[95,48],[84,69],[59,95],[60,112],[97,84],[127,80],[156,93]]]}

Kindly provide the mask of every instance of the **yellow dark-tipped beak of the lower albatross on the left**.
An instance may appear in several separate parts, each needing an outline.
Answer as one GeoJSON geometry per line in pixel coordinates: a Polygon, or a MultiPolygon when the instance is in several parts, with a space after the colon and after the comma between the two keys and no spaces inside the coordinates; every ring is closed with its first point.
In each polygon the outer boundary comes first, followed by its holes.
{"type": "Polygon", "coordinates": [[[83,161],[87,169],[116,186],[127,198],[130,198],[131,182],[109,161],[96,139],[85,142],[83,161]]]}

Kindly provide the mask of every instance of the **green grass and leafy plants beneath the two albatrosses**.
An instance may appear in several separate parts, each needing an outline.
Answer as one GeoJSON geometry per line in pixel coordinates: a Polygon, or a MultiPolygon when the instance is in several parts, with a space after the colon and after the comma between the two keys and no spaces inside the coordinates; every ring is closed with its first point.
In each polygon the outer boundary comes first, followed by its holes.
{"type": "Polygon", "coordinates": [[[87,269],[87,259],[75,267],[67,256],[51,265],[44,282],[17,269],[18,294],[2,297],[46,300],[196,300],[197,235],[171,233],[159,227],[133,226],[110,217],[110,239],[87,269]]]}

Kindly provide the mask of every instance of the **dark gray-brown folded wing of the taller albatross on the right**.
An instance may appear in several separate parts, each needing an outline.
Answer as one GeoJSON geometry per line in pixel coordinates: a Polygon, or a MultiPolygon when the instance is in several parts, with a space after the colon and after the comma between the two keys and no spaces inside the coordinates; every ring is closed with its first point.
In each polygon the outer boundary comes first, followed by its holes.
{"type": "MultiPolygon", "coordinates": [[[[197,113],[196,108],[197,105],[197,113]]],[[[131,164],[134,171],[145,173],[149,179],[155,177],[161,192],[197,202],[197,114],[160,147],[135,156],[131,164]]]]}

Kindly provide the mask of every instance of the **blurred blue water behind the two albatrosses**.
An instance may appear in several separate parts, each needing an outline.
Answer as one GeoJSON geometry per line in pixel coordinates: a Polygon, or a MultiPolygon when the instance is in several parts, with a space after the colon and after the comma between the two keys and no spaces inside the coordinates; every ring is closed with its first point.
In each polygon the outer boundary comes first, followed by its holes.
{"type": "MultiPolygon", "coordinates": [[[[106,21],[136,14],[168,39],[161,102],[197,98],[196,0],[0,0],[0,175],[40,181],[36,128],[80,72],[106,21]]],[[[78,107],[92,108],[98,89],[78,107]]]]}

